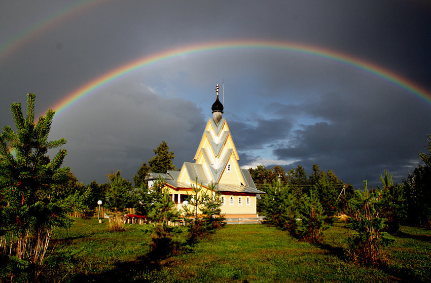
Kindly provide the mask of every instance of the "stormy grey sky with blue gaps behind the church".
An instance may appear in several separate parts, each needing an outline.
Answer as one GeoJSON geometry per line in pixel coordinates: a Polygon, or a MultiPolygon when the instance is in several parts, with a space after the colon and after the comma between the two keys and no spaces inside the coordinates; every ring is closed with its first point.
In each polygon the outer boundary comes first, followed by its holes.
{"type": "MultiPolygon", "coordinates": [[[[55,118],[77,178],[132,181],[165,140],[193,161],[224,82],[224,118],[240,165],[313,163],[345,183],[406,178],[431,133],[427,1],[2,1],[0,126],[35,92],[42,115],[81,86],[139,58],[205,43],[299,44],[352,56],[423,88],[422,97],[319,54],[223,48],[174,56],[104,84],[55,118]]],[[[51,153],[54,155],[55,153],[51,153]]]]}

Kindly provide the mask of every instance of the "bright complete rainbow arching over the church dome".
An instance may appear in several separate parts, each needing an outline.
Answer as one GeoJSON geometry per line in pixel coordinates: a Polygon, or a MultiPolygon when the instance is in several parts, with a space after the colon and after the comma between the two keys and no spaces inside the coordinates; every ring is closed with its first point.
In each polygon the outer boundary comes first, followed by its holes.
{"type": "Polygon", "coordinates": [[[224,51],[224,50],[243,50],[243,49],[256,49],[256,50],[278,50],[278,51],[290,51],[297,52],[300,54],[306,54],[316,56],[320,58],[326,58],[332,61],[340,62],[345,65],[349,65],[353,68],[361,69],[367,73],[371,73],[383,80],[386,80],[406,91],[412,93],[419,98],[431,103],[431,93],[426,89],[422,88],[418,84],[388,70],[382,66],[376,65],[369,61],[353,57],[351,55],[336,52],[321,47],[314,47],[300,43],[292,42],[279,42],[279,41],[256,41],[256,40],[236,40],[236,41],[224,41],[224,42],[206,42],[198,43],[193,45],[187,45],[179,48],[174,48],[159,53],[151,54],[148,56],[140,57],[129,63],[121,65],[117,68],[104,73],[96,79],[88,82],[87,84],[79,87],[73,92],[67,94],[64,99],[59,101],[53,106],[57,115],[76,104],[83,97],[95,92],[97,89],[106,85],[107,83],[118,80],[130,73],[135,72],[138,69],[154,65],[159,62],[167,61],[169,59],[191,55],[207,53],[212,51],[224,51]]]}

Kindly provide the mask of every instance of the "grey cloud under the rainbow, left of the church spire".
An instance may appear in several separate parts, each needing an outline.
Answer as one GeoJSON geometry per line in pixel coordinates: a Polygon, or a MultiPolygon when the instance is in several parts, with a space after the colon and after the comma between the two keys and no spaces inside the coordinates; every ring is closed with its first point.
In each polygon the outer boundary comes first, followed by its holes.
{"type": "Polygon", "coordinates": [[[102,182],[111,170],[120,169],[132,180],[162,140],[181,167],[193,158],[205,123],[192,102],[163,97],[131,79],[87,97],[79,109],[71,110],[55,118],[50,137],[67,139],[64,165],[84,182],[102,182]]]}

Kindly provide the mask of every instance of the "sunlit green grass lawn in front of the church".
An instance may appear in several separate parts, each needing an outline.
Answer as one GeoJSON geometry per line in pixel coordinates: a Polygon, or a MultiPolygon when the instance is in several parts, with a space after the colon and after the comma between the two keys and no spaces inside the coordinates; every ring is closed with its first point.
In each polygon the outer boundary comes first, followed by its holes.
{"type": "Polygon", "coordinates": [[[325,242],[298,242],[265,225],[229,225],[197,243],[191,252],[152,262],[149,234],[142,226],[110,233],[97,220],[77,219],[70,230],[56,230],[54,251],[83,252],[72,268],[47,272],[47,280],[73,282],[296,282],[431,281],[431,231],[403,227],[385,250],[388,265],[365,268],[344,260],[349,230],[335,223],[325,242]]]}

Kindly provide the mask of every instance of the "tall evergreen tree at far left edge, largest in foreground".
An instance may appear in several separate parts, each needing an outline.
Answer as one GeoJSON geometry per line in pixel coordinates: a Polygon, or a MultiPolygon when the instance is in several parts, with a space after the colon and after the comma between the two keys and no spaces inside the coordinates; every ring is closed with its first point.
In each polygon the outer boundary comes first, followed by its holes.
{"type": "Polygon", "coordinates": [[[21,103],[13,103],[11,111],[17,132],[5,126],[0,135],[0,237],[7,250],[1,257],[0,274],[10,273],[20,266],[20,275],[7,274],[12,280],[24,274],[35,280],[49,246],[53,227],[68,228],[73,220],[67,213],[85,208],[85,194],[70,193],[55,197],[52,188],[67,180],[68,167],[61,167],[66,155],[60,149],[49,160],[49,149],[66,143],[64,138],[48,140],[55,112],[34,121],[35,94],[27,94],[27,115],[24,118],[21,103]],[[14,277],[18,276],[18,277],[14,277]]]}

